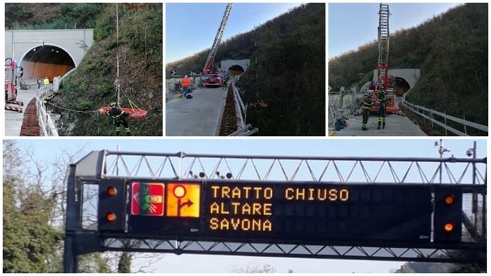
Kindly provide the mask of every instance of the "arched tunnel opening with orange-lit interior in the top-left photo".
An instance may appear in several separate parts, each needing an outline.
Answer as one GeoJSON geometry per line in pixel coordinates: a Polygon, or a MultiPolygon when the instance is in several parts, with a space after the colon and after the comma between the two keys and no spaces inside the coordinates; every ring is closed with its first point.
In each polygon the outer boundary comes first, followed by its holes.
{"type": "Polygon", "coordinates": [[[75,61],[68,52],[55,45],[38,45],[20,60],[24,79],[46,78],[50,81],[75,68],[75,61]]]}

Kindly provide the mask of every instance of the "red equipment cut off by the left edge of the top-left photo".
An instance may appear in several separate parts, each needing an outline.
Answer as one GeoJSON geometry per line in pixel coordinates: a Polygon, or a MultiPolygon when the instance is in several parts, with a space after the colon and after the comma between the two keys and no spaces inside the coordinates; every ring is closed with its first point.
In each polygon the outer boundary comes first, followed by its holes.
{"type": "Polygon", "coordinates": [[[17,62],[10,57],[5,59],[5,110],[22,112],[22,108],[17,108],[15,106],[7,106],[7,103],[14,104],[17,106],[24,106],[22,101],[17,100],[17,84],[19,83],[20,75],[19,67],[17,62]]]}

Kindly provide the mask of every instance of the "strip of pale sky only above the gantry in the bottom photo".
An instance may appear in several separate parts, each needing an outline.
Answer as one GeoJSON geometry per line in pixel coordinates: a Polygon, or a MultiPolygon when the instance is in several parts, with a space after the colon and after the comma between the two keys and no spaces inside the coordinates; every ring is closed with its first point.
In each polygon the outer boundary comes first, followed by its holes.
{"type": "MultiPolygon", "coordinates": [[[[187,152],[192,154],[250,154],[250,155],[282,155],[304,157],[439,157],[434,147],[436,138],[417,140],[350,140],[350,139],[20,139],[16,140],[19,147],[31,147],[35,156],[41,160],[54,160],[62,150],[75,152],[83,149],[116,150],[120,145],[122,151],[187,152]],[[403,146],[404,145],[404,146],[403,146]],[[378,152],[378,148],[387,150],[378,152]]],[[[455,154],[465,157],[465,152],[472,147],[474,140],[448,139],[443,140],[455,154]]],[[[478,140],[478,157],[486,154],[485,140],[478,140]],[[481,149],[481,150],[479,150],[481,149]]],[[[450,156],[448,156],[450,157],[450,156]]]]}

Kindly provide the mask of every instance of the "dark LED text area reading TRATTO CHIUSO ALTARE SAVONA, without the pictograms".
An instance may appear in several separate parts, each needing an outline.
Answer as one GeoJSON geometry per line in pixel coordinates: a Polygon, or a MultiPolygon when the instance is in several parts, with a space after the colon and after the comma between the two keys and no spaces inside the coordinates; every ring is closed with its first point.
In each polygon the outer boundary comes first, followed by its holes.
{"type": "Polygon", "coordinates": [[[427,242],[431,187],[206,183],[204,231],[228,238],[427,242]]]}

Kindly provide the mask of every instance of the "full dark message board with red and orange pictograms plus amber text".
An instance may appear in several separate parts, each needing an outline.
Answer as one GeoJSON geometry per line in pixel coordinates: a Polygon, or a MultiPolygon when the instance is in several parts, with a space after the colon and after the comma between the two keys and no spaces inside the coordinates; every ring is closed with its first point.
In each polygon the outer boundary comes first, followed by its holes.
{"type": "Polygon", "coordinates": [[[432,187],[130,182],[129,233],[211,240],[429,242],[432,187]]]}

